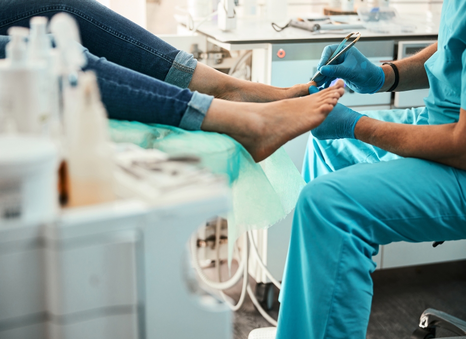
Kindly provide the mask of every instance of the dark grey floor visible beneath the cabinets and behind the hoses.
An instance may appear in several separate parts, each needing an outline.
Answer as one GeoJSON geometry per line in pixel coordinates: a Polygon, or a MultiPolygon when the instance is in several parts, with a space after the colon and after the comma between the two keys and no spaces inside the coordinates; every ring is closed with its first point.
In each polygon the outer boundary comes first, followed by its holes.
{"type": "MultiPolygon", "coordinates": [[[[409,339],[422,311],[428,308],[466,320],[466,261],[380,270],[372,277],[374,298],[367,339],[409,339]]],[[[239,296],[238,292],[231,295],[239,296]]],[[[278,309],[276,301],[270,312],[275,319],[278,309]]],[[[247,339],[251,330],[268,326],[247,298],[235,313],[233,338],[247,339]]],[[[437,338],[445,336],[453,335],[438,331],[437,338]]]]}

